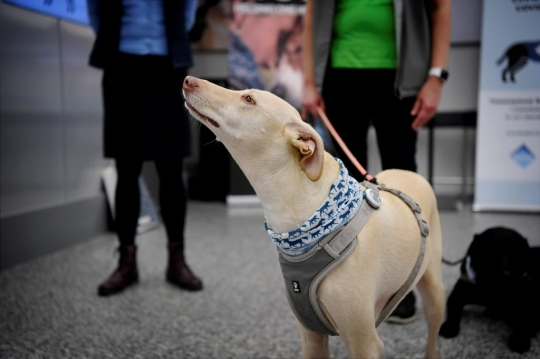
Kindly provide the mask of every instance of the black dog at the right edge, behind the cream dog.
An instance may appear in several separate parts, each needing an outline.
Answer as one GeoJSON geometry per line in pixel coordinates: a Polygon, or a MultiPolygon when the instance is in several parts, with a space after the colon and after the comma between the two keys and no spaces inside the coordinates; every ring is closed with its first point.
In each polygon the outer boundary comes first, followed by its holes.
{"type": "Polygon", "coordinates": [[[503,227],[475,235],[448,298],[441,336],[459,334],[467,304],[485,306],[486,314],[508,321],[513,327],[508,346],[528,351],[540,330],[540,247],[530,248],[519,233],[503,227]]]}

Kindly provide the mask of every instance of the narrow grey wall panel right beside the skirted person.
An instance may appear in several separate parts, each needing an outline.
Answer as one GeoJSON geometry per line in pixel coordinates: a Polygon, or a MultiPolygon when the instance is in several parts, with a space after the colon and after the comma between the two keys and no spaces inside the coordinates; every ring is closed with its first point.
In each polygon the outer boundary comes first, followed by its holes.
{"type": "Polygon", "coordinates": [[[89,27],[61,22],[68,201],[99,195],[100,172],[110,162],[102,158],[102,71],[88,65],[93,40],[89,27]]]}

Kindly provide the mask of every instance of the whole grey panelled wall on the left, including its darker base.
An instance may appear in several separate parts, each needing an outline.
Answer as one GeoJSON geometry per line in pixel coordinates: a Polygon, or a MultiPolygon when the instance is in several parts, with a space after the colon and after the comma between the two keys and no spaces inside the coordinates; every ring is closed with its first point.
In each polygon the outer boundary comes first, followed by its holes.
{"type": "Polygon", "coordinates": [[[87,26],[0,3],[0,268],[107,230],[87,26]]]}

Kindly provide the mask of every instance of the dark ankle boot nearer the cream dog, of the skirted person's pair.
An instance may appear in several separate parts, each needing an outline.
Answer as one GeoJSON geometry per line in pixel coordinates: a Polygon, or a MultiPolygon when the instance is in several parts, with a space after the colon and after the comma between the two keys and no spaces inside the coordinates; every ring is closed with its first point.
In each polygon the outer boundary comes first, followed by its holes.
{"type": "Polygon", "coordinates": [[[167,267],[167,281],[182,289],[201,290],[202,281],[195,277],[184,259],[184,246],[182,243],[170,242],[169,265],[167,267]]]}

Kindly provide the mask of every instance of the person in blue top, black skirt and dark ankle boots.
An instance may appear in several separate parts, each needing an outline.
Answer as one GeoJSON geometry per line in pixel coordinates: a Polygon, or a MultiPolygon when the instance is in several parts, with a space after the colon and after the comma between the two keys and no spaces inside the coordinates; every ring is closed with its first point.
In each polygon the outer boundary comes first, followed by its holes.
{"type": "Polygon", "coordinates": [[[96,33],[90,65],[103,69],[104,155],[115,160],[118,174],[115,228],[120,259],[98,294],[115,294],[138,281],[135,235],[144,161],[154,161],[159,175],[168,238],[167,281],[201,290],[202,281],[184,258],[187,196],[182,174],[191,147],[182,82],[193,64],[188,30],[197,0],[88,0],[87,4],[96,33]]]}

